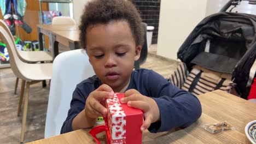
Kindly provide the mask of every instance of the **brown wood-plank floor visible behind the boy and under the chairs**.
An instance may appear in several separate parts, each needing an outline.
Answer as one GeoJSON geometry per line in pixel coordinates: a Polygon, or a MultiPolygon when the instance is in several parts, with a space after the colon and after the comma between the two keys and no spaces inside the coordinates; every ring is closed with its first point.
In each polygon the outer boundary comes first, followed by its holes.
{"type": "MultiPolygon", "coordinates": [[[[152,53],[149,53],[146,63],[141,67],[153,69],[164,77],[170,76],[177,62],[156,57],[152,53]]],[[[0,69],[0,143],[20,143],[21,116],[17,116],[17,109],[21,81],[17,94],[14,94],[15,80],[10,68],[0,69]]],[[[41,83],[31,86],[25,142],[44,138],[49,89],[42,88],[41,83]]]]}

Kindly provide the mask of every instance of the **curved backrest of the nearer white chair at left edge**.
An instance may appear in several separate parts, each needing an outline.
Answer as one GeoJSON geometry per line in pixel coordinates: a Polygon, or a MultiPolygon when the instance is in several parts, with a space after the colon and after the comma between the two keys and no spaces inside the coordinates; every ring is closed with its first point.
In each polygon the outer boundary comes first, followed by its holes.
{"type": "MultiPolygon", "coordinates": [[[[8,54],[9,54],[9,61],[11,70],[13,70],[13,73],[22,80],[27,80],[27,77],[24,76],[24,74],[21,73],[21,69],[24,69],[26,67],[26,64],[20,60],[18,57],[18,53],[16,51],[15,41],[13,38],[13,35],[9,35],[8,32],[4,29],[4,27],[0,26],[0,37],[2,38],[8,54]]],[[[27,69],[27,68],[26,68],[27,69]]]]}

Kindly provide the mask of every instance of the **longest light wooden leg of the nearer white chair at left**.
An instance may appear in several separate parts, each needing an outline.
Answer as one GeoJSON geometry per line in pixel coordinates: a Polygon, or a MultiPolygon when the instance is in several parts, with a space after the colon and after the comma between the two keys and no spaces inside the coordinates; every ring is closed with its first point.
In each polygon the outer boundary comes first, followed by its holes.
{"type": "Polygon", "coordinates": [[[24,108],[23,108],[23,114],[22,114],[22,125],[21,125],[20,142],[24,142],[26,120],[27,120],[27,107],[28,107],[29,92],[30,92],[30,83],[26,82],[25,101],[24,101],[24,108]]]}

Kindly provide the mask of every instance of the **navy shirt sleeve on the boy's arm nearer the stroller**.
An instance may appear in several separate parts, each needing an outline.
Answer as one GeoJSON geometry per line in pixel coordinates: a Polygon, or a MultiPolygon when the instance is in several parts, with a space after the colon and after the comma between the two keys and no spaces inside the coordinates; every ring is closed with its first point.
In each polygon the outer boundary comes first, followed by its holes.
{"type": "Polygon", "coordinates": [[[150,132],[158,133],[176,127],[187,127],[201,116],[201,104],[195,95],[173,86],[153,70],[151,73],[147,87],[149,97],[158,104],[160,121],[150,125],[150,132]]]}

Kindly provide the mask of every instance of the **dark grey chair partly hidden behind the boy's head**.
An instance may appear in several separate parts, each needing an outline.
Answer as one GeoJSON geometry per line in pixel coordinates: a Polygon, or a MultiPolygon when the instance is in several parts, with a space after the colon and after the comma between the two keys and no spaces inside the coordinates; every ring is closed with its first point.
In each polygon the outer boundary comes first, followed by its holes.
{"type": "Polygon", "coordinates": [[[144,44],[141,49],[141,57],[139,57],[138,61],[134,63],[135,69],[139,69],[139,65],[145,63],[148,57],[147,23],[142,22],[142,26],[144,28],[144,44]]]}

